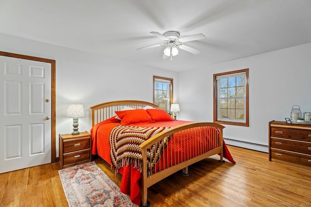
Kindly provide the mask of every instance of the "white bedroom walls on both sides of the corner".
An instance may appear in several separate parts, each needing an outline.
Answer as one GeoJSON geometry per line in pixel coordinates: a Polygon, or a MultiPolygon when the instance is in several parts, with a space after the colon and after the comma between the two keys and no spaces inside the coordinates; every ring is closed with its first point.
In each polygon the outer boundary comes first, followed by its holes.
{"type": "MultiPolygon", "coordinates": [[[[311,43],[180,74],[0,33],[0,50],[56,60],[56,134],[71,133],[69,103],[84,104],[79,130],[90,130],[89,107],[111,100],[152,102],[153,75],[174,79],[178,119],[213,121],[213,74],[249,68],[249,127],[225,125],[224,137],[268,145],[268,122],[283,121],[293,105],[311,110],[311,43]]],[[[58,155],[58,138],[56,139],[58,155]]],[[[267,151],[265,147],[230,143],[267,151]]]]}

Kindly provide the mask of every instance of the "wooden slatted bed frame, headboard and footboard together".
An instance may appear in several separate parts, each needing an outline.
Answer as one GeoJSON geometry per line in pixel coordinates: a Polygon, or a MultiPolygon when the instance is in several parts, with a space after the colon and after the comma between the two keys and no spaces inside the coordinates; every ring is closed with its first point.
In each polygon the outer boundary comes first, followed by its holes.
{"type": "MultiPolygon", "coordinates": [[[[92,126],[116,115],[115,111],[120,111],[124,106],[135,109],[145,106],[157,108],[153,103],[133,100],[99,104],[91,107],[92,126]]],[[[147,205],[147,189],[156,182],[212,155],[220,154],[220,159],[223,160],[223,128],[225,127],[215,123],[190,123],[172,127],[141,143],[142,205],[147,205]],[[151,148],[161,146],[161,142],[165,144],[157,151],[160,153],[150,153],[155,151],[151,148]],[[155,163],[152,162],[154,159],[157,160],[156,165],[148,166],[155,163]]]]}

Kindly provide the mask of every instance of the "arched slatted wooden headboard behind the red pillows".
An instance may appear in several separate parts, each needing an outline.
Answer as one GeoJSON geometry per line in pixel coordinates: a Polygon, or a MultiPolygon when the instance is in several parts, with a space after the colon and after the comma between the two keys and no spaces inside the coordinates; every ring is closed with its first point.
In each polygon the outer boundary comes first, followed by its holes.
{"type": "Polygon", "coordinates": [[[92,109],[92,126],[106,119],[109,119],[112,116],[115,116],[115,111],[121,111],[124,106],[128,106],[134,109],[143,109],[145,106],[158,108],[158,106],[153,103],[136,100],[111,101],[98,104],[96,106],[90,107],[92,109]]]}

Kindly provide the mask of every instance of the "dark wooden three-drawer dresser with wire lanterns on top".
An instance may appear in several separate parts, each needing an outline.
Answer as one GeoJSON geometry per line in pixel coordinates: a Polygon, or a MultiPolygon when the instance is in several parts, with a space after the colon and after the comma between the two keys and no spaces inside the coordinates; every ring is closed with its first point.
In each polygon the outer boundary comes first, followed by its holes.
{"type": "Polygon", "coordinates": [[[311,169],[311,125],[269,122],[269,160],[311,169]]]}

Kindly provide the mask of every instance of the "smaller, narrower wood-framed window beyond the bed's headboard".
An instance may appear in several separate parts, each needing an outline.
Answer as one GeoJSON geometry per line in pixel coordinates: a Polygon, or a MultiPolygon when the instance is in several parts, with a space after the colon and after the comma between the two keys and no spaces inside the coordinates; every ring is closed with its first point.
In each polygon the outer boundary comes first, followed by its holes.
{"type": "Polygon", "coordinates": [[[173,79],[154,76],[154,104],[170,111],[173,103],[173,79]]]}

